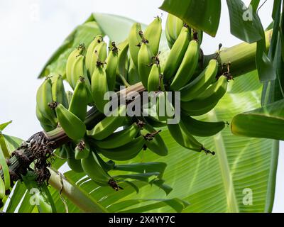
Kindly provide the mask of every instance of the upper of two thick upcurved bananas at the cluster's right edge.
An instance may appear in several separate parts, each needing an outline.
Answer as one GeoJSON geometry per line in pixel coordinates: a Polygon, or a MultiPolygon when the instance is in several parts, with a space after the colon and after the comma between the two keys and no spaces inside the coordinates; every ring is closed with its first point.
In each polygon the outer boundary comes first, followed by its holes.
{"type": "Polygon", "coordinates": [[[180,89],[180,99],[182,101],[190,101],[195,99],[197,95],[207,89],[209,84],[214,82],[218,72],[218,62],[215,59],[209,61],[208,66],[204,69],[198,77],[185,87],[180,89]]]}

